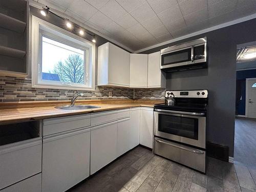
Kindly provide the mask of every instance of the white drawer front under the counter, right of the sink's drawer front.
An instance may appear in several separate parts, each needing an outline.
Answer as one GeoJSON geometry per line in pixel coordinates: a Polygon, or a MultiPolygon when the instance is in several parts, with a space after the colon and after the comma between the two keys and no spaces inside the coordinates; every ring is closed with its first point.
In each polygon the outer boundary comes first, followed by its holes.
{"type": "Polygon", "coordinates": [[[92,114],[91,124],[99,125],[127,117],[130,117],[130,109],[95,113],[92,114]]]}

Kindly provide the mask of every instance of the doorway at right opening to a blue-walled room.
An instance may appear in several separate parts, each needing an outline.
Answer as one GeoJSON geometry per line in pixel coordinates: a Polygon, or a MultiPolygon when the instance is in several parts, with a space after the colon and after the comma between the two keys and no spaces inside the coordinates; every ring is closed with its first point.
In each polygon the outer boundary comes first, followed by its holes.
{"type": "Polygon", "coordinates": [[[256,173],[256,41],[237,46],[234,162],[256,173]]]}

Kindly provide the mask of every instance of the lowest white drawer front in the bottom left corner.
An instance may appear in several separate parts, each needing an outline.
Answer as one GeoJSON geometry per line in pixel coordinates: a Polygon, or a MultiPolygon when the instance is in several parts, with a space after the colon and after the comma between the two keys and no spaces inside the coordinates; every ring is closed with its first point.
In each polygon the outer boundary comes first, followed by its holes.
{"type": "Polygon", "coordinates": [[[1,192],[41,192],[41,173],[0,190],[1,192]]]}

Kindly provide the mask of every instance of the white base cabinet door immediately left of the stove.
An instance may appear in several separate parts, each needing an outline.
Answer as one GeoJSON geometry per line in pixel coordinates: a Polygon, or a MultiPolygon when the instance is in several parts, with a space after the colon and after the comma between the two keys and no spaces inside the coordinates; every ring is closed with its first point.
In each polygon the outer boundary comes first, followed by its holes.
{"type": "Polygon", "coordinates": [[[140,144],[152,148],[153,144],[153,108],[141,108],[140,144]]]}

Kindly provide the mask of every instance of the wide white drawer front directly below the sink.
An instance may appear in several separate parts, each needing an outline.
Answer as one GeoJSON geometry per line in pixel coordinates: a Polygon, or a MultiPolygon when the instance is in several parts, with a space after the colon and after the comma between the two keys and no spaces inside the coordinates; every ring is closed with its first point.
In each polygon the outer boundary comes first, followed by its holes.
{"type": "Polygon", "coordinates": [[[44,120],[43,136],[70,131],[91,125],[91,115],[73,115],[44,120]]]}

